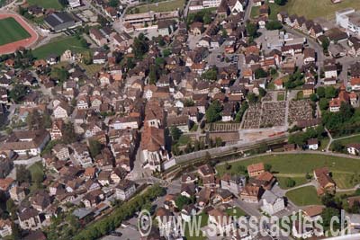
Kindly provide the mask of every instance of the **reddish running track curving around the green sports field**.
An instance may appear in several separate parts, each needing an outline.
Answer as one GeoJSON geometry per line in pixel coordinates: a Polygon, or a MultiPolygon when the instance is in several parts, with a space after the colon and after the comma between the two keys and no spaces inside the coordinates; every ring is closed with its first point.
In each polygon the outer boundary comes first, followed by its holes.
{"type": "Polygon", "coordinates": [[[21,16],[14,13],[0,13],[0,20],[8,17],[13,17],[16,22],[19,22],[19,24],[22,25],[23,29],[29,32],[31,37],[0,46],[0,55],[13,53],[14,51],[16,51],[16,49],[19,49],[20,47],[29,48],[39,39],[38,33],[34,31],[29,25],[29,23],[25,22],[21,16]]]}

